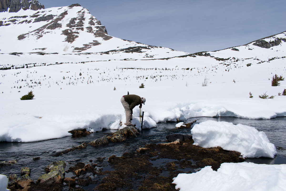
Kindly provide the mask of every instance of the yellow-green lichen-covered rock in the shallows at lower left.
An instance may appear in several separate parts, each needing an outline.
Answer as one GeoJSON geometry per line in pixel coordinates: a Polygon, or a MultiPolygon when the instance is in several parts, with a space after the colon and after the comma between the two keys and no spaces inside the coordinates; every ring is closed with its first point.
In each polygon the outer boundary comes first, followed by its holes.
{"type": "Polygon", "coordinates": [[[45,171],[47,174],[43,174],[39,177],[38,182],[41,184],[61,183],[64,179],[64,168],[66,164],[64,161],[54,161],[49,164],[45,171]]]}

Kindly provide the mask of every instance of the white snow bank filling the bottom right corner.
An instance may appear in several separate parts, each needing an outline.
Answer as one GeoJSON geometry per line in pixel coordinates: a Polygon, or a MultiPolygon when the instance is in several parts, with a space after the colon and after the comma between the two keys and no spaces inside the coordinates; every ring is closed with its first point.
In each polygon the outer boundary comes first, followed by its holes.
{"type": "Polygon", "coordinates": [[[172,183],[188,191],[282,191],[286,188],[286,164],[223,163],[216,171],[210,166],[192,174],[178,174],[172,183]]]}

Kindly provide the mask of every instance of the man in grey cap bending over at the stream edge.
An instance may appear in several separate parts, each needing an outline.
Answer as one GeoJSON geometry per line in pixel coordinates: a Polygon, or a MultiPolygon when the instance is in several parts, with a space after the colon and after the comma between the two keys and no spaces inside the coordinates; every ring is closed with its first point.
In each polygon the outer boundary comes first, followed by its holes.
{"type": "Polygon", "coordinates": [[[139,108],[142,108],[142,103],[145,105],[146,99],[144,97],[131,94],[122,96],[120,101],[125,109],[126,125],[130,126],[132,125],[131,120],[132,120],[133,108],[136,105],[139,105],[139,108]]]}

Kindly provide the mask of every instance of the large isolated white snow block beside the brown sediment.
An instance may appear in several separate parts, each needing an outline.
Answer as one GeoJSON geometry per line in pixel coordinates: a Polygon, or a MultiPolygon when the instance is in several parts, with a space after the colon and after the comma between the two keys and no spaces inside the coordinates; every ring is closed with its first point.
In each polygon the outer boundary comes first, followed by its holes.
{"type": "Polygon", "coordinates": [[[266,134],[254,127],[221,121],[204,121],[194,125],[191,130],[194,145],[210,148],[222,147],[229,151],[238,151],[244,157],[269,157],[277,154],[274,144],[266,134]]]}

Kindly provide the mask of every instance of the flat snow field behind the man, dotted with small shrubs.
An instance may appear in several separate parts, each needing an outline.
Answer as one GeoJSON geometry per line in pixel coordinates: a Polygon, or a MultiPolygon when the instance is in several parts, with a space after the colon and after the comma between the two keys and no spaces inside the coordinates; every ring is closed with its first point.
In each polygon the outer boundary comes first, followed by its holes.
{"type": "MultiPolygon", "coordinates": [[[[10,56],[18,61],[21,57],[10,56]]],[[[54,63],[57,58],[63,58],[49,56],[42,58],[50,59],[50,62],[55,59],[54,63]]],[[[74,58],[79,55],[66,56],[74,58]]],[[[83,58],[83,55],[79,57],[83,58]]],[[[284,67],[280,60],[259,65],[260,73],[268,75],[265,78],[256,72],[256,66],[232,68],[227,72],[224,65],[219,65],[214,72],[211,70],[215,70],[212,69],[215,63],[204,64],[204,58],[211,59],[202,56],[111,60],[0,70],[0,99],[5,100],[0,107],[0,140],[30,142],[68,136],[68,131],[74,129],[119,129],[119,121],[125,123],[120,98],[127,91],[146,98],[141,112],[144,111],[146,119],[150,117],[150,123],[143,128],[150,128],[150,124],[155,127],[158,122],[176,121],[177,118],[183,121],[191,117],[270,119],[286,116],[284,96],[266,100],[258,98],[265,91],[277,95],[286,88],[285,81],[272,87],[271,80],[268,80],[271,71],[274,73],[284,67]],[[188,67],[192,70],[184,69],[188,67]],[[249,75],[242,76],[241,73],[249,75]],[[205,76],[209,83],[202,87],[205,76]],[[145,88],[139,88],[141,83],[145,88]],[[34,99],[21,101],[20,97],[31,90],[34,99]],[[249,98],[250,91],[253,99],[249,98]]],[[[92,57],[85,59],[93,60],[92,57]]],[[[11,59],[9,62],[15,61],[11,59]]],[[[18,64],[21,66],[23,61],[18,64]]],[[[280,71],[279,75],[286,75],[284,70],[280,71]]],[[[133,117],[139,117],[138,107],[134,108],[133,117]]]]}

